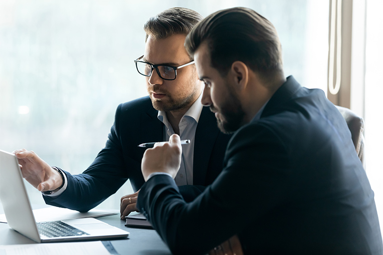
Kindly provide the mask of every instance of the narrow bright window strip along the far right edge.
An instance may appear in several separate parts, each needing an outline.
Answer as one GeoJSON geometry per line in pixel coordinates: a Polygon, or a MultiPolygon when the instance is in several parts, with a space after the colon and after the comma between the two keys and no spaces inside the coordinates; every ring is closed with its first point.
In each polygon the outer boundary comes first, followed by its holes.
{"type": "Polygon", "coordinates": [[[381,0],[367,1],[365,88],[366,169],[375,192],[381,229],[383,229],[382,8],[381,0]]]}

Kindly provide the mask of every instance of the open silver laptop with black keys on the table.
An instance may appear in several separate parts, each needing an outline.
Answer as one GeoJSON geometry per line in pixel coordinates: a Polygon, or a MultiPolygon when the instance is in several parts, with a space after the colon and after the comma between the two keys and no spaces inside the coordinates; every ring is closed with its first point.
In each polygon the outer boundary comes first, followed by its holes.
{"type": "Polygon", "coordinates": [[[2,150],[0,200],[9,227],[37,243],[116,239],[129,235],[94,218],[36,223],[18,160],[14,154],[2,150]],[[57,229],[60,230],[57,232],[57,229]]]}

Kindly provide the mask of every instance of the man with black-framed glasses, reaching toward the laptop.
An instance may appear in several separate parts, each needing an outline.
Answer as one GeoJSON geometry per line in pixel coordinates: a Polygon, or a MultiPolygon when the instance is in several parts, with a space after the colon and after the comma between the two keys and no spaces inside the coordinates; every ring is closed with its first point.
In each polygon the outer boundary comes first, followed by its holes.
{"type": "Polygon", "coordinates": [[[14,151],[23,177],[43,193],[47,204],[86,212],[129,179],[135,193],[121,198],[124,219],[137,210],[138,191],[145,183],[145,148],[138,145],[168,141],[172,134],[190,140],[175,177],[184,199],[191,201],[215,180],[230,136],[220,133],[214,113],[201,104],[203,83],[184,47],[187,33],[202,18],[194,10],[175,7],[145,23],[145,52],[134,62],[146,77],[149,96],[118,106],[105,148],[82,174],[51,167],[32,151],[14,151]]]}

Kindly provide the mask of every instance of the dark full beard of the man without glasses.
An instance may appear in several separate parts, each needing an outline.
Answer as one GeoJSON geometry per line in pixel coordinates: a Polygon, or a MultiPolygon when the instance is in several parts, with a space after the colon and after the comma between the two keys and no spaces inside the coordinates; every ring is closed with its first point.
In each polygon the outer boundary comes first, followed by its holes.
{"type": "MultiPolygon", "coordinates": [[[[218,115],[221,115],[221,118],[217,116],[217,124],[221,132],[231,134],[245,124],[245,112],[234,89],[229,84],[227,84],[227,89],[229,96],[226,99],[226,103],[221,106],[221,110],[218,113],[218,115]]],[[[214,105],[210,105],[210,110],[217,112],[217,108],[214,105]]]]}

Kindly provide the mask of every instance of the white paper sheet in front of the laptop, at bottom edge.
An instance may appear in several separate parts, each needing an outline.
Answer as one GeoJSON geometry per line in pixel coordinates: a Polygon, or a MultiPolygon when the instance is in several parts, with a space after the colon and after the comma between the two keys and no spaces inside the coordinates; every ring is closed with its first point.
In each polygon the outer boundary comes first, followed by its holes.
{"type": "Polygon", "coordinates": [[[101,241],[33,245],[1,245],[0,255],[110,255],[101,241]]]}

